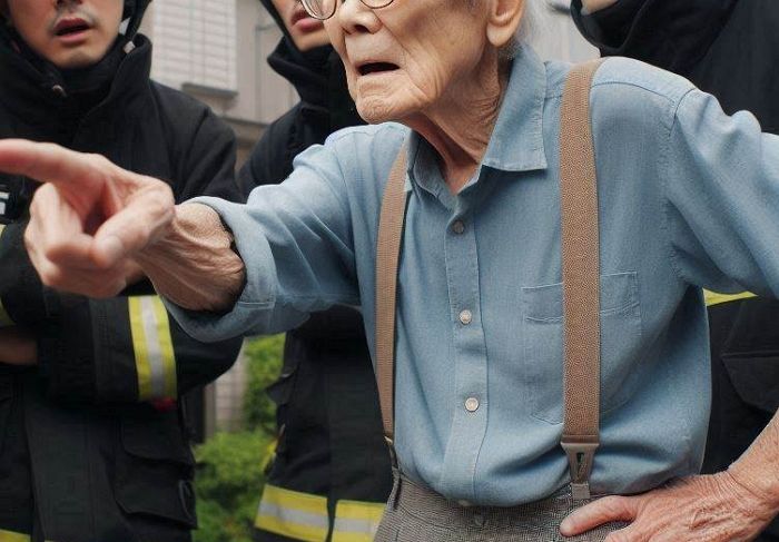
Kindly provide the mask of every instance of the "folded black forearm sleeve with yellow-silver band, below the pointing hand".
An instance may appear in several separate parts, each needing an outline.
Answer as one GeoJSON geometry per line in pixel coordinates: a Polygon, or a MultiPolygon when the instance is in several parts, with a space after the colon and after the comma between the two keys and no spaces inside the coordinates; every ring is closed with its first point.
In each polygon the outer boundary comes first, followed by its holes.
{"type": "Polygon", "coordinates": [[[176,398],[227,371],[241,344],[193,339],[155,295],[63,296],[52,311],[39,327],[39,364],[49,394],[68,402],[176,398]]]}

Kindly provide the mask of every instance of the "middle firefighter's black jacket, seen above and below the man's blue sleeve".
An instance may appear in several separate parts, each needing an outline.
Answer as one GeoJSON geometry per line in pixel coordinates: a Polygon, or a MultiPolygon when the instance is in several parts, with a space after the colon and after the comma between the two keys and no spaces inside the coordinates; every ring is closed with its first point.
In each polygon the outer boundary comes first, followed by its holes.
{"type": "MultiPolygon", "coordinates": [[[[269,1],[264,3],[276,14],[269,1]]],[[[295,86],[300,101],[267,128],[253,150],[239,175],[245,195],[258,185],[282,183],[292,173],[295,156],[309,146],[341,128],[363,124],[332,48],[304,56],[285,38],[268,62],[295,86]]],[[[295,534],[299,525],[284,518],[298,499],[321,510],[321,524],[327,526],[322,526],[317,540],[373,540],[371,533],[341,529],[348,520],[375,525],[392,489],[359,311],[336,306],[313,314],[289,332],[283,375],[269,393],[278,405],[279,440],[257,518],[258,540],[304,540],[295,534]]]]}

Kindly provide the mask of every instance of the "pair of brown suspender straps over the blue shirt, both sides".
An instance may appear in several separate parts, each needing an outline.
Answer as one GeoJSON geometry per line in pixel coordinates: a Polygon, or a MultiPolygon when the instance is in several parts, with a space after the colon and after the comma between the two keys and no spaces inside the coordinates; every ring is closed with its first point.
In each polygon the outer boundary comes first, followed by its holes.
{"type": "MultiPolygon", "coordinates": [[[[590,88],[601,60],[574,67],[565,81],[560,128],[560,205],[564,306],[565,422],[561,445],[575,500],[589,499],[600,442],[600,264],[598,187],[590,88]]],[[[405,220],[406,147],[384,193],[376,248],[376,378],[384,434],[393,446],[397,270],[405,220]]]]}

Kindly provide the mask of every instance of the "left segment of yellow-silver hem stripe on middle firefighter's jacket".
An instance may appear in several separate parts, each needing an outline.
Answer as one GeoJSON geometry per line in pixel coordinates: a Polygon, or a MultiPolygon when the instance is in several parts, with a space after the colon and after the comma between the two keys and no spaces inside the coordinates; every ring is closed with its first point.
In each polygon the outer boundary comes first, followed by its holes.
{"type": "Polygon", "coordinates": [[[329,530],[327,499],[266,484],[255,525],[294,540],[324,542],[329,530]]]}

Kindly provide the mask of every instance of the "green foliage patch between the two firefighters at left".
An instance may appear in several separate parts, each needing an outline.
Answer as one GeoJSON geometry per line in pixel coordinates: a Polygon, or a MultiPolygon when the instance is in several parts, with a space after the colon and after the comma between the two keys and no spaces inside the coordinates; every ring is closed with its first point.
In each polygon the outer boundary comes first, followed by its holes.
{"type": "Polygon", "coordinates": [[[265,388],[278,378],[283,351],[284,335],[247,342],[246,431],[217,433],[195,451],[199,522],[195,542],[252,542],[263,471],[276,435],[276,406],[265,388]]]}

